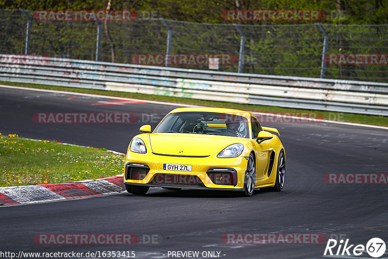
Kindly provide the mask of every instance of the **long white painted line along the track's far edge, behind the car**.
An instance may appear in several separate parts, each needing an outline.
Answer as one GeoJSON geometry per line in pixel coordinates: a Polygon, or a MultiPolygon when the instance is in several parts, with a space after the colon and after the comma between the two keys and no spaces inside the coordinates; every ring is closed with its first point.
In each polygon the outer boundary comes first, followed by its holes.
{"type": "MultiPolygon", "coordinates": [[[[185,106],[185,107],[202,107],[202,106],[198,106],[198,105],[179,104],[179,103],[172,103],[172,102],[151,101],[151,100],[143,100],[143,99],[124,98],[124,97],[112,97],[112,96],[103,96],[103,95],[95,95],[95,94],[84,94],[84,93],[75,93],[75,92],[66,92],[66,91],[57,91],[57,90],[46,90],[46,89],[38,89],[38,88],[11,86],[11,85],[0,85],[0,87],[3,87],[3,88],[13,88],[13,89],[21,89],[21,90],[30,90],[30,91],[38,91],[38,92],[66,94],[66,95],[78,95],[78,96],[89,96],[89,97],[101,97],[101,98],[108,98],[108,99],[122,99],[122,100],[130,100],[130,101],[142,101],[142,102],[146,102],[146,103],[155,103],[155,104],[162,104],[162,105],[174,105],[174,106],[185,106]]],[[[77,88],[74,88],[74,89],[77,89],[77,88]]],[[[252,113],[261,114],[261,115],[267,115],[267,116],[279,116],[279,114],[275,114],[275,113],[258,113],[258,112],[252,112],[252,113]]],[[[344,122],[344,121],[334,121],[334,120],[314,119],[314,118],[288,116],[288,115],[281,115],[281,114],[280,114],[280,116],[287,117],[287,118],[298,119],[298,120],[313,120],[313,121],[316,121],[316,122],[324,122],[324,123],[333,123],[333,124],[340,124],[340,125],[347,125],[347,126],[357,126],[357,127],[365,127],[365,128],[373,128],[373,129],[386,129],[386,130],[388,130],[388,127],[377,126],[377,125],[369,125],[369,124],[361,124],[361,123],[353,123],[353,122],[344,122]]]]}

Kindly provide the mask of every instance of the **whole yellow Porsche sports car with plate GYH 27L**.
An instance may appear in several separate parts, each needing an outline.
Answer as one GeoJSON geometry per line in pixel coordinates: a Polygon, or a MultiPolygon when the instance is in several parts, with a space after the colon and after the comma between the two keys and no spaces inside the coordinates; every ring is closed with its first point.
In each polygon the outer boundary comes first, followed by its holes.
{"type": "Polygon", "coordinates": [[[124,184],[131,194],[150,187],[242,191],[284,186],[286,157],[274,128],[249,112],[178,108],[152,131],[140,128],[128,146],[124,184]],[[276,133],[272,134],[271,132],[276,133]]]}

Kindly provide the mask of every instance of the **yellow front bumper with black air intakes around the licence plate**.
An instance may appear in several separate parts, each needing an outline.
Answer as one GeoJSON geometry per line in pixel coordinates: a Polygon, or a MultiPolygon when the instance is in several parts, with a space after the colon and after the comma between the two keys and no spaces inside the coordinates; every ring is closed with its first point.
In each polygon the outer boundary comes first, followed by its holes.
{"type": "Polygon", "coordinates": [[[164,188],[243,191],[247,159],[217,156],[193,158],[129,151],[124,184],[164,188]],[[163,164],[191,165],[192,171],[164,170],[163,164]],[[132,169],[131,169],[132,168],[132,169]]]}

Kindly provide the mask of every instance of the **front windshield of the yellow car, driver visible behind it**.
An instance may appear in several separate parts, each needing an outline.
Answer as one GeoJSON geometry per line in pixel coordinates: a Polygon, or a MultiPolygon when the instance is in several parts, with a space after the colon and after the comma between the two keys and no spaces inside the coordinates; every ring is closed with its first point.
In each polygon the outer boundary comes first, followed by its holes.
{"type": "Polygon", "coordinates": [[[248,120],[239,115],[210,112],[170,113],[155,133],[192,133],[249,138],[248,120]]]}

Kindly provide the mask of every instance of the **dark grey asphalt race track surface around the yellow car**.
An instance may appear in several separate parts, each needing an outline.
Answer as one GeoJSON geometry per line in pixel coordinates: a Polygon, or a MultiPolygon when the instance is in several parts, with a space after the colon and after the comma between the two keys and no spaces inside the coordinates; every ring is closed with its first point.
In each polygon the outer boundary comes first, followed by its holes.
{"type": "MultiPolygon", "coordinates": [[[[125,153],[141,125],[154,128],[165,113],[178,107],[112,102],[119,99],[0,87],[0,132],[125,153]],[[124,124],[33,121],[35,113],[108,112],[133,113],[137,120],[124,124]]],[[[286,147],[283,192],[261,190],[246,198],[233,193],[153,188],[145,196],[121,193],[1,206],[0,251],[135,251],[135,258],[155,259],[167,258],[169,251],[199,251],[200,255],[218,251],[225,259],[322,258],[326,240],[318,244],[230,244],[222,237],[227,233],[317,233],[327,239],[349,239],[350,244],[366,245],[374,237],[388,241],[388,184],[323,181],[328,173],[387,173],[388,130],[316,122],[263,125],[279,129],[286,147]],[[34,243],[34,235],[42,233],[124,233],[136,234],[140,241],[130,245],[34,243]],[[159,238],[148,242],[152,235],[159,238]]],[[[388,252],[382,258],[387,257],[388,252]]],[[[348,258],[371,257],[365,252],[348,258]]]]}

